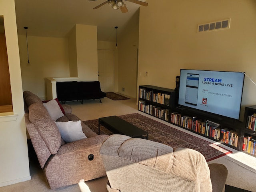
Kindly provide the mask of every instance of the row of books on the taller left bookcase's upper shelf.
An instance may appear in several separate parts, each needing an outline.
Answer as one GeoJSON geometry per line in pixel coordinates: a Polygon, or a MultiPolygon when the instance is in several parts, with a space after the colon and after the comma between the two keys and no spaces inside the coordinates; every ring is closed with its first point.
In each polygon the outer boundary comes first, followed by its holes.
{"type": "Polygon", "coordinates": [[[170,105],[170,95],[165,93],[154,93],[151,91],[146,91],[145,88],[140,88],[139,97],[142,99],[150,100],[156,103],[170,105]]]}

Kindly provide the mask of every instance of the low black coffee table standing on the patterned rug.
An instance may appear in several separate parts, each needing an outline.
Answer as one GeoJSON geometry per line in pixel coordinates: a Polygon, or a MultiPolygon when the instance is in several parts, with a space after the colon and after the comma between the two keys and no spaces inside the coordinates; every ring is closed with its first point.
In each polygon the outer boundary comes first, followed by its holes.
{"type": "Polygon", "coordinates": [[[114,134],[127,135],[132,138],[138,137],[148,139],[148,132],[134,126],[133,124],[130,124],[125,120],[122,120],[117,116],[99,118],[99,134],[100,125],[103,125],[114,134]]]}

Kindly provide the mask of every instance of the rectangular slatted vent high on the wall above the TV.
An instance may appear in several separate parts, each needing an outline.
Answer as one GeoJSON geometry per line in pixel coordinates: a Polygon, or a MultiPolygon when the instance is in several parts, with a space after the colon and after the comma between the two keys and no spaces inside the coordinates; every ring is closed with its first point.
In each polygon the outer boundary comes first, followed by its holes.
{"type": "Polygon", "coordinates": [[[230,18],[221,21],[200,24],[197,27],[197,32],[216,31],[230,28],[230,18]]]}

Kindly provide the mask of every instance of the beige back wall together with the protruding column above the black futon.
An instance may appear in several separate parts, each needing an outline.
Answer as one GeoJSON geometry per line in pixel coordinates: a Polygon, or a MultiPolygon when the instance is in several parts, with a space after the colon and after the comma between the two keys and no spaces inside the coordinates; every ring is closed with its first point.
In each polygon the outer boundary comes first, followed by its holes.
{"type": "MultiPolygon", "coordinates": [[[[29,28],[28,28],[29,34],[29,28]]],[[[75,25],[69,38],[18,36],[23,90],[46,98],[47,77],[78,77],[98,80],[97,28],[75,25]]]]}

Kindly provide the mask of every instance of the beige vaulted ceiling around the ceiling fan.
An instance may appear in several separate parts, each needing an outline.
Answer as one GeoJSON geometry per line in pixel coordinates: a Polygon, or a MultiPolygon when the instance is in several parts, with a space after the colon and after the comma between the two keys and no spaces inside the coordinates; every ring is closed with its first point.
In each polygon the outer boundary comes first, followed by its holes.
{"type": "MultiPolygon", "coordinates": [[[[145,1],[145,0],[142,0],[145,1]]],[[[127,22],[136,15],[140,5],[125,1],[128,12],[114,10],[108,4],[93,9],[105,0],[15,0],[19,35],[67,37],[75,24],[97,26],[98,40],[115,41],[116,29],[122,32],[127,22]]]]}

